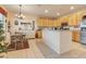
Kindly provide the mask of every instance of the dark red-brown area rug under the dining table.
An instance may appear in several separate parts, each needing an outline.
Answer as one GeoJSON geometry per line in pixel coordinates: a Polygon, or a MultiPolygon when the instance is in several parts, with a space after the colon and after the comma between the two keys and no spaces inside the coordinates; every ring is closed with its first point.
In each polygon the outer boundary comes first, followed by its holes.
{"type": "Polygon", "coordinates": [[[16,51],[16,50],[23,50],[23,49],[28,49],[28,41],[27,40],[23,40],[23,41],[17,41],[17,42],[12,42],[11,44],[8,47],[8,52],[10,51],[16,51]]]}

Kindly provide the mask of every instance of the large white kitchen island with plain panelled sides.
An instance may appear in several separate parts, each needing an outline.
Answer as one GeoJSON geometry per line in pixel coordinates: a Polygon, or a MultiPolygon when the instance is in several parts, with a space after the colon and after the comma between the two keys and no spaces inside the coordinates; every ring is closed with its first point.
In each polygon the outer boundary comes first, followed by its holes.
{"type": "Polygon", "coordinates": [[[71,30],[42,29],[42,40],[50,49],[59,54],[72,49],[71,30]]]}

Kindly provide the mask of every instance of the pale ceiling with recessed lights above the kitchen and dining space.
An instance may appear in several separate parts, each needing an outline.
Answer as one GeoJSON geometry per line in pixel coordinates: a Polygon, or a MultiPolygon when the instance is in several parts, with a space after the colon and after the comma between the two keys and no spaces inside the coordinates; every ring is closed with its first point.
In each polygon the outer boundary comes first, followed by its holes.
{"type": "MultiPolygon", "coordinates": [[[[4,8],[11,12],[19,13],[19,4],[5,4],[4,8]]],[[[86,9],[85,4],[23,4],[22,12],[23,14],[37,15],[37,16],[48,16],[48,17],[58,17],[64,14],[76,12],[79,10],[86,9]],[[71,10],[71,7],[74,7],[71,10]],[[46,13],[45,10],[48,10],[46,13]],[[60,13],[60,15],[57,15],[60,13]]]]}

